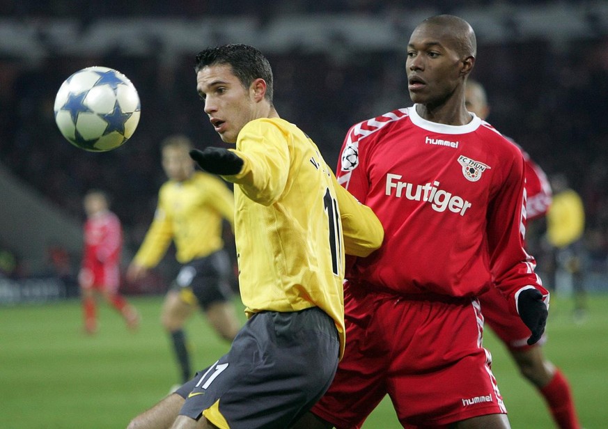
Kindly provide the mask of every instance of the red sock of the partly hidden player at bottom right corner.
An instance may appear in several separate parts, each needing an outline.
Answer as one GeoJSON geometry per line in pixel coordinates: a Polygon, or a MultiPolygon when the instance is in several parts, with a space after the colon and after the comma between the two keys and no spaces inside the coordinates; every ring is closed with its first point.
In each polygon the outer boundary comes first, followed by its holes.
{"type": "Polygon", "coordinates": [[[545,397],[553,419],[560,429],[580,429],[570,384],[559,369],[555,370],[549,384],[539,390],[545,397]]]}

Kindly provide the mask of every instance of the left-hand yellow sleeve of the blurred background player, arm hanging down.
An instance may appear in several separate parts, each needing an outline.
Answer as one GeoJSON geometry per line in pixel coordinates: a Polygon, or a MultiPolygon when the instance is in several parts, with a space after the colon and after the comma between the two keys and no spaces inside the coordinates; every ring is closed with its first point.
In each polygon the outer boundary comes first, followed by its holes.
{"type": "Polygon", "coordinates": [[[173,238],[171,219],[162,208],[162,194],[159,194],[158,207],[146,237],[137,251],[134,262],[143,267],[155,267],[169,249],[173,238]]]}

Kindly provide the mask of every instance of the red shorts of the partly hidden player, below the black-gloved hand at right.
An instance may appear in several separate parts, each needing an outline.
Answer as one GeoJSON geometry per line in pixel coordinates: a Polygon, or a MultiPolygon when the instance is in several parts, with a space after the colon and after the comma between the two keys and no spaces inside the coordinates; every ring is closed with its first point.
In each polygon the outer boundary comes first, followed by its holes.
{"type": "Polygon", "coordinates": [[[509,350],[528,350],[538,345],[543,345],[547,338],[545,334],[540,341],[534,345],[528,345],[531,331],[528,329],[519,315],[510,312],[506,298],[501,295],[497,288],[492,288],[479,297],[481,313],[485,323],[492,328],[509,350]]]}

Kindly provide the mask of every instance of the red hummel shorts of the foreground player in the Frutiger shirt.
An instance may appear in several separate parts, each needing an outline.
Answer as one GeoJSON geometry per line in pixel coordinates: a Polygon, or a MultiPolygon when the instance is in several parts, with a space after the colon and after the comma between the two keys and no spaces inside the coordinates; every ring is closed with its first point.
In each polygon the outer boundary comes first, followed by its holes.
{"type": "Polygon", "coordinates": [[[404,428],[506,414],[476,299],[403,299],[345,285],[346,350],[312,411],[359,428],[388,393],[404,428]]]}

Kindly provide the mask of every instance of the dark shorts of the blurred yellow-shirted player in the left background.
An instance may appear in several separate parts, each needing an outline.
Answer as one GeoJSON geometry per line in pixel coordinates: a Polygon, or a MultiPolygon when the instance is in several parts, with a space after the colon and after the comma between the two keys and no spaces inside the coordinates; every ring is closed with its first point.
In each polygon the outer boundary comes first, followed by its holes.
{"type": "MultiPolygon", "coordinates": [[[[233,292],[230,286],[230,257],[224,250],[211,253],[205,258],[194,259],[185,264],[173,281],[173,289],[184,291],[189,288],[196,302],[205,310],[215,302],[226,302],[233,292]]],[[[189,302],[188,292],[182,294],[189,302]]]]}

